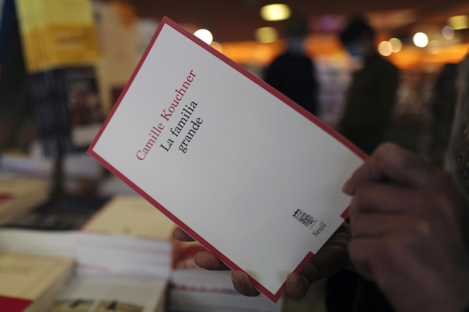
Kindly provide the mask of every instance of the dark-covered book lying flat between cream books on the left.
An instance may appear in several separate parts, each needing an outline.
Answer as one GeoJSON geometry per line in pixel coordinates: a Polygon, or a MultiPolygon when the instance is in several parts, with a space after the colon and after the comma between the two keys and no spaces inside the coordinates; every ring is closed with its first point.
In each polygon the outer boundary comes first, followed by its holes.
{"type": "Polygon", "coordinates": [[[3,227],[47,231],[78,230],[104,206],[108,199],[108,197],[53,199],[3,227]]]}

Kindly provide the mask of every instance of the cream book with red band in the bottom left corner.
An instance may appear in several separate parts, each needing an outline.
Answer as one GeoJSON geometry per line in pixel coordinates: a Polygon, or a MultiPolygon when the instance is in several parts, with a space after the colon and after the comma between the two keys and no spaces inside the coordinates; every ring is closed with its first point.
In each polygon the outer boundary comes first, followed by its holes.
{"type": "Polygon", "coordinates": [[[0,252],[0,307],[8,312],[41,312],[64,287],[73,258],[0,252]]]}

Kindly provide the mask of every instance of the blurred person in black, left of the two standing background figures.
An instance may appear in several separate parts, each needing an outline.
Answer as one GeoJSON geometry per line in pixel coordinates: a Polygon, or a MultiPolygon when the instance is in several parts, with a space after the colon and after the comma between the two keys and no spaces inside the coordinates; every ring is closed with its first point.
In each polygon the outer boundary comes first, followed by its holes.
{"type": "Polygon", "coordinates": [[[308,25],[301,16],[291,17],[286,24],[287,50],[270,64],[264,80],[291,98],[311,114],[318,113],[318,81],[315,65],[304,53],[308,25]]]}

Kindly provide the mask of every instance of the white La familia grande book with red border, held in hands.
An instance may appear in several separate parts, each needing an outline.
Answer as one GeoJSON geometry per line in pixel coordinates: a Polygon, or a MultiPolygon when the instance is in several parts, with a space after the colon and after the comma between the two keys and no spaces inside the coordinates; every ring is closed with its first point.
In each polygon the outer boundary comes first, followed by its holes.
{"type": "Polygon", "coordinates": [[[168,18],[88,153],[274,302],[347,217],[366,158],[168,18]]]}

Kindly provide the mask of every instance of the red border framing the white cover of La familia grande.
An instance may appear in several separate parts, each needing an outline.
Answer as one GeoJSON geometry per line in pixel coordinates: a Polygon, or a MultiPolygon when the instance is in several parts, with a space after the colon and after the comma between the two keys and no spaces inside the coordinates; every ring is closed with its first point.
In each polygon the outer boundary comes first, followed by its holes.
{"type": "MultiPolygon", "coordinates": [[[[124,182],[126,182],[133,190],[135,190],[138,194],[140,194],[142,197],[147,199],[153,206],[155,206],[158,210],[160,210],[164,215],[169,217],[177,226],[179,226],[182,230],[184,230],[187,234],[191,235],[195,240],[197,240],[202,246],[204,246],[208,251],[210,251],[212,254],[214,254],[216,257],[218,257],[223,263],[225,263],[227,266],[229,266],[232,270],[235,271],[243,271],[240,267],[238,267],[233,261],[231,261],[228,257],[226,257],[224,254],[220,253],[216,248],[214,248],[211,244],[209,244],[205,239],[203,239],[200,235],[192,231],[192,229],[184,224],[181,220],[179,220],[175,215],[171,214],[165,207],[160,205],[156,200],[151,198],[147,193],[145,193],[142,189],[140,189],[137,185],[135,185],[132,181],[130,181],[126,176],[124,176],[122,173],[120,173],[116,168],[111,166],[105,159],[103,159],[101,156],[96,154],[93,151],[94,146],[96,145],[96,142],[99,140],[101,137],[101,134],[103,133],[104,129],[106,128],[107,124],[109,123],[110,119],[114,115],[114,112],[116,109],[119,107],[119,104],[121,103],[122,99],[126,95],[128,88],[133,82],[133,79],[137,75],[138,71],[140,70],[140,67],[142,67],[145,59],[147,58],[147,55],[149,54],[149,51],[151,47],[153,46],[156,38],[161,32],[161,29],[165,24],[168,24],[178,32],[180,32],[182,35],[186,36],[188,39],[192,40],[205,50],[207,50],[209,53],[213,54],[215,57],[218,59],[221,59],[223,62],[226,64],[230,65],[233,67],[235,70],[246,76],[247,78],[251,79],[254,81],[257,85],[260,87],[264,88],[268,92],[270,92],[272,95],[274,95],[276,98],[287,104],[288,106],[292,107],[294,110],[296,110],[298,113],[303,115],[304,117],[308,118],[311,120],[313,123],[315,123],[318,127],[320,127],[322,130],[324,130],[326,133],[328,133],[330,136],[334,137],[338,141],[340,141],[343,145],[345,145],[347,148],[349,148],[352,152],[354,152],[357,156],[365,160],[367,158],[366,154],[363,153],[359,148],[357,148],[355,145],[350,143],[347,139],[339,135],[337,132],[335,132],[333,129],[331,129],[329,126],[324,124],[322,121],[320,121],[317,117],[314,115],[310,114],[308,111],[306,111],[304,108],[299,106],[297,103],[293,102],[291,99],[287,98],[280,92],[278,92],[276,89],[274,89],[272,86],[268,85],[266,82],[261,80],[260,78],[257,78],[254,74],[250,73],[248,70],[244,69],[237,63],[235,63],[233,60],[227,58],[217,50],[215,50],[213,47],[202,41],[201,39],[195,37],[193,34],[191,34],[189,31],[186,29],[182,28],[180,25],[177,23],[173,22],[166,16],[161,20],[160,25],[158,26],[158,29],[156,30],[155,34],[153,35],[153,38],[151,39],[147,49],[145,50],[145,53],[143,54],[142,58],[138,62],[137,67],[133,71],[132,76],[127,82],[126,87],[122,91],[120,97],[117,99],[117,102],[115,105],[112,107],[109,115],[107,116],[103,126],[99,130],[98,134],[94,138],[93,142],[88,148],[88,154],[93,156],[95,159],[97,159],[103,166],[107,168],[110,172],[112,172],[114,175],[118,176],[120,179],[122,179],[124,182]]],[[[348,216],[348,210],[344,211],[344,213],[341,215],[343,218],[346,218],[348,216]]],[[[298,264],[297,268],[295,269],[295,273],[299,273],[305,266],[306,264],[311,260],[311,258],[314,256],[313,253],[309,252],[304,259],[298,264]]],[[[244,272],[244,271],[243,271],[244,272]]],[[[249,275],[249,274],[248,274],[249,275]]],[[[251,283],[253,286],[259,291],[262,292],[267,298],[269,298],[273,302],[277,302],[277,300],[282,296],[283,292],[285,292],[286,289],[286,281],[283,283],[283,285],[278,289],[276,293],[268,291],[264,286],[262,286],[259,282],[257,282],[252,276],[249,276],[249,279],[251,280],[251,283]]]]}

